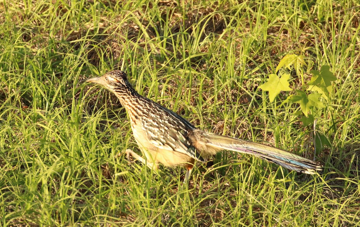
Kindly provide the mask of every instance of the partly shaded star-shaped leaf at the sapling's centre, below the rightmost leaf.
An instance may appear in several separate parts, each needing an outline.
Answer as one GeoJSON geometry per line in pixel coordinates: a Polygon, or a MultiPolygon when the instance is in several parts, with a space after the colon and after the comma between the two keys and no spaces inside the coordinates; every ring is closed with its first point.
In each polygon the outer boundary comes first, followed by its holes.
{"type": "Polygon", "coordinates": [[[291,97],[290,100],[294,103],[300,104],[301,111],[306,117],[308,116],[307,113],[311,110],[312,107],[325,107],[324,104],[319,100],[321,94],[317,92],[306,95],[305,92],[301,90],[296,90],[296,93],[297,94],[291,97]]]}

